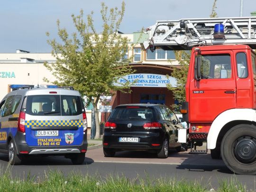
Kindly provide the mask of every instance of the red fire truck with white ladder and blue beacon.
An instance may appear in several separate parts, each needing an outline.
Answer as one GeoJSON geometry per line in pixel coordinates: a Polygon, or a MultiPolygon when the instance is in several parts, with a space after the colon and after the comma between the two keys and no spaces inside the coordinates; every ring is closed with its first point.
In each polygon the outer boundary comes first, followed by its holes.
{"type": "Polygon", "coordinates": [[[179,142],[256,175],[256,17],[157,21],[146,31],[146,49],[191,50],[179,142]]]}

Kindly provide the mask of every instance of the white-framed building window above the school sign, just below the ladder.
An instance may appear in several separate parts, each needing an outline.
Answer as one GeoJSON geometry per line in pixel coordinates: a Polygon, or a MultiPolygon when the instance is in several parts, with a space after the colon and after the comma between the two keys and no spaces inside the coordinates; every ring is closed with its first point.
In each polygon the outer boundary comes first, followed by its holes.
{"type": "Polygon", "coordinates": [[[150,49],[146,50],[146,59],[148,60],[167,60],[172,59],[175,60],[175,54],[173,50],[162,50],[156,49],[154,52],[151,52],[150,49]]]}

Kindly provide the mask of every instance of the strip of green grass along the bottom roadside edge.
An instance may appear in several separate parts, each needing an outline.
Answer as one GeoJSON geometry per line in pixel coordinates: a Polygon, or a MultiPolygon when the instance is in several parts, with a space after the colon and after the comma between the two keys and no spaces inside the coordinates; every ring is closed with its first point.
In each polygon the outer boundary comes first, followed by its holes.
{"type": "MultiPolygon", "coordinates": [[[[28,175],[13,178],[9,172],[0,175],[0,192],[209,192],[210,184],[176,179],[128,179],[126,177],[89,176],[72,173],[64,176],[60,171],[46,172],[43,178],[28,175]]],[[[236,179],[222,181],[214,192],[246,192],[236,179]]]]}

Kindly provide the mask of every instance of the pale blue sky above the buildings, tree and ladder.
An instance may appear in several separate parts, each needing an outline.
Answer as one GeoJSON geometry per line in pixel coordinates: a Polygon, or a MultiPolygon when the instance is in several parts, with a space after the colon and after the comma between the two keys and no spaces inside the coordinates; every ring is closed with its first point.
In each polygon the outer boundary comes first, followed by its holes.
{"type": "MultiPolygon", "coordinates": [[[[56,20],[69,32],[74,31],[71,15],[94,12],[95,27],[101,32],[101,2],[109,8],[120,8],[122,0],[4,0],[0,6],[0,53],[17,49],[46,53],[46,43],[57,37],[56,20]]],[[[132,33],[154,25],[156,20],[209,17],[213,0],[125,0],[126,11],[120,31],[132,33]]],[[[256,11],[256,0],[243,0],[243,16],[256,11]]],[[[218,17],[239,17],[240,0],[218,0],[218,17]]]]}

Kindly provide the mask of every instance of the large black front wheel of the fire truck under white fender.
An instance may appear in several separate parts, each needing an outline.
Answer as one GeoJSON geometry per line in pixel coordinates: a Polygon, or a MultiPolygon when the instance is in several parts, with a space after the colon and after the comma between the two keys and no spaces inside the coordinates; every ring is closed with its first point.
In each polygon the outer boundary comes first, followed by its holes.
{"type": "Polygon", "coordinates": [[[221,142],[221,157],[236,174],[256,175],[256,126],[232,127],[221,142]]]}

